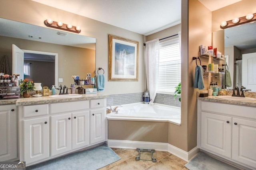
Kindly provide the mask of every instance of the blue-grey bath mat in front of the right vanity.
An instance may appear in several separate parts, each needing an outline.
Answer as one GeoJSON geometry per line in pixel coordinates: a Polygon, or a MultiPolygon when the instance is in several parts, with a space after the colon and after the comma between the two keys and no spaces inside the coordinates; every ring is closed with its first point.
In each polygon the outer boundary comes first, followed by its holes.
{"type": "Polygon", "coordinates": [[[185,167],[189,170],[239,170],[234,166],[208,156],[204,152],[199,152],[190,162],[185,164],[185,167]]]}

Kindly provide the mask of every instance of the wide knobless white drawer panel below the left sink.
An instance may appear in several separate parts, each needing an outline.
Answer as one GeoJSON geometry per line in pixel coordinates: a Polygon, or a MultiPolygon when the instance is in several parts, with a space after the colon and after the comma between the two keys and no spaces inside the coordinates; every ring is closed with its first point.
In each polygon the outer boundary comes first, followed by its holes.
{"type": "Polygon", "coordinates": [[[50,105],[51,114],[89,109],[89,101],[55,103],[50,105]]]}

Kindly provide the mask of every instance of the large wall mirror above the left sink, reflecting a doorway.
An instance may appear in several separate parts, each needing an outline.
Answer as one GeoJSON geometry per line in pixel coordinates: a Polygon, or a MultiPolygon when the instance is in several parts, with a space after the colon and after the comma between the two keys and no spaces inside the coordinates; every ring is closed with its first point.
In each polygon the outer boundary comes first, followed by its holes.
{"type": "Polygon", "coordinates": [[[73,75],[95,76],[95,38],[3,18],[0,30],[0,60],[6,56],[10,74],[22,74],[47,87],[69,87],[73,75]],[[24,53],[22,61],[13,60],[13,45],[24,53]],[[22,64],[23,73],[13,72],[15,64],[22,64]]]}

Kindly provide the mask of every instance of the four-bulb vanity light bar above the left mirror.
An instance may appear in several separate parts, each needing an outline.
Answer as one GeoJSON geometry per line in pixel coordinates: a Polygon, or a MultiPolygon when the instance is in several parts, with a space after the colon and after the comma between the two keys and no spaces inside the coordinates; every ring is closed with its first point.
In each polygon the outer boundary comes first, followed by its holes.
{"type": "Polygon", "coordinates": [[[44,25],[46,25],[47,27],[62,29],[62,30],[70,31],[74,33],[81,32],[81,28],[79,26],[72,26],[71,24],[65,24],[65,23],[62,23],[61,21],[56,22],[50,18],[44,21],[44,25]]]}

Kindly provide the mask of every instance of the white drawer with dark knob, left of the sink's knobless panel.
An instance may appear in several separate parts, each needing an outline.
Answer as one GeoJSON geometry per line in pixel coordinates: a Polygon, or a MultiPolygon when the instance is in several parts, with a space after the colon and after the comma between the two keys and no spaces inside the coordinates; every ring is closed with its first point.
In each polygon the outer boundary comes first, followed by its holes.
{"type": "Polygon", "coordinates": [[[48,115],[48,104],[24,106],[24,117],[48,115]]]}

